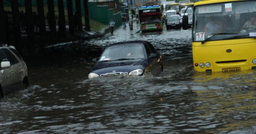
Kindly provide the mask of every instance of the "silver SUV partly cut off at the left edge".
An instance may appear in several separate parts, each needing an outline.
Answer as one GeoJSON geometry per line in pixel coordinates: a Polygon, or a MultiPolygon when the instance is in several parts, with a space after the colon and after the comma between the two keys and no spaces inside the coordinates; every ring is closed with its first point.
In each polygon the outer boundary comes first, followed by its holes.
{"type": "Polygon", "coordinates": [[[14,46],[0,45],[0,62],[0,98],[29,85],[26,63],[14,46]]]}

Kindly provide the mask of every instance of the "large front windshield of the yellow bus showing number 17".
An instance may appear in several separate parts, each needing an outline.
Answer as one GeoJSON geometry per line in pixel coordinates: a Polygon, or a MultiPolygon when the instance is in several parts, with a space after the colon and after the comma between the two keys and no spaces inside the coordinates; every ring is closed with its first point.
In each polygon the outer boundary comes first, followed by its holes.
{"type": "Polygon", "coordinates": [[[256,1],[217,3],[194,8],[194,42],[256,36],[256,1]]]}

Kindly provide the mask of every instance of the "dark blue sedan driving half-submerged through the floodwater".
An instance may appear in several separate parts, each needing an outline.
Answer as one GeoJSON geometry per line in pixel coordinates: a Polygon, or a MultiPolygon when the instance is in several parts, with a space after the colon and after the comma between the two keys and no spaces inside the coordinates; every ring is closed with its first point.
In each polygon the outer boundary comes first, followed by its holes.
{"type": "Polygon", "coordinates": [[[158,76],[163,71],[160,54],[148,41],[130,41],[110,44],[88,74],[88,78],[105,75],[158,76]]]}

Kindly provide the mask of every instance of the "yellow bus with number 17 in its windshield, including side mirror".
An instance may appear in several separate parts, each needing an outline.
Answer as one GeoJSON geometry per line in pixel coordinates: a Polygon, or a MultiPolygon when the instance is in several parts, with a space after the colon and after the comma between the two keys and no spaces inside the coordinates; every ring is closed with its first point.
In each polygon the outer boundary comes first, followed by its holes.
{"type": "MultiPolygon", "coordinates": [[[[183,29],[187,23],[185,16],[183,29]]],[[[256,69],[256,0],[196,2],[192,25],[194,70],[256,69]]]]}

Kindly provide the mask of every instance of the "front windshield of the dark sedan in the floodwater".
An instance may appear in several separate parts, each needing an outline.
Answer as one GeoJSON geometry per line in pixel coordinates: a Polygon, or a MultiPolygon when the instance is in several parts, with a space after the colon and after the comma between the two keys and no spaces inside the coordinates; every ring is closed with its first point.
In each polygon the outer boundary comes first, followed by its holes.
{"type": "Polygon", "coordinates": [[[99,62],[143,58],[145,54],[142,45],[116,45],[105,49],[99,62]]]}

